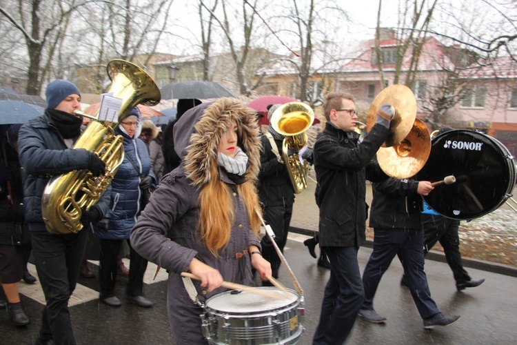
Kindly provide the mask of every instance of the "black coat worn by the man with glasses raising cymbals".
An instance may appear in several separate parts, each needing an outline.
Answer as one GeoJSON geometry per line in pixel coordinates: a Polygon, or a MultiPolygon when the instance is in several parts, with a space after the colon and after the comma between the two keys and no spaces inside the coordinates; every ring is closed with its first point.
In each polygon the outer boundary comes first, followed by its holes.
{"type": "Polygon", "coordinates": [[[313,158],[320,246],[358,247],[365,242],[365,179],[387,178],[372,159],[388,134],[388,128],[376,124],[358,144],[356,132],[345,132],[327,122],[316,140],[313,158]]]}

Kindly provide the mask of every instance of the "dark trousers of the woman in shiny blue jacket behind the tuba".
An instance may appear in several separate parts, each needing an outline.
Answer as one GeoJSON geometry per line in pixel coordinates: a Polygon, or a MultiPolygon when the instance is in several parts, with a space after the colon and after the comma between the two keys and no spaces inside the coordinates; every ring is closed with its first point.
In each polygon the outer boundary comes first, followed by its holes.
{"type": "Polygon", "coordinates": [[[143,275],[148,267],[148,260],[136,253],[129,239],[99,239],[101,246],[101,253],[99,254],[101,298],[115,295],[116,264],[119,260],[122,241],[128,241],[130,247],[130,276],[126,294],[129,296],[143,295],[143,275]]]}

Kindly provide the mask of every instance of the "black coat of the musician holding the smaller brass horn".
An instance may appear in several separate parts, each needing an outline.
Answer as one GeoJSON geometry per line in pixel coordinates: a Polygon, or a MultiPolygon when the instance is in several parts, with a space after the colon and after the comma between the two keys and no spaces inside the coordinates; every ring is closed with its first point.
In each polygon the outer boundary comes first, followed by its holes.
{"type": "MultiPolygon", "coordinates": [[[[285,164],[278,162],[270,140],[261,137],[261,170],[259,172],[259,197],[263,206],[289,206],[294,203],[294,188],[285,164]]],[[[282,154],[282,140],[275,140],[278,153],[282,154]]]]}

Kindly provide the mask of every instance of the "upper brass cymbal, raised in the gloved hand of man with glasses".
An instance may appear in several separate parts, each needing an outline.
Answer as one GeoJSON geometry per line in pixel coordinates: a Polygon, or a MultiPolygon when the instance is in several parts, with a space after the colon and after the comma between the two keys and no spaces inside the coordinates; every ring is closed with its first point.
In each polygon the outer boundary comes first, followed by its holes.
{"type": "Polygon", "coordinates": [[[395,108],[395,115],[389,124],[390,134],[383,144],[383,147],[389,147],[400,143],[411,130],[416,119],[416,98],[413,91],[405,85],[395,84],[382,90],[369,107],[367,132],[377,121],[377,110],[383,103],[389,103],[395,108]]]}

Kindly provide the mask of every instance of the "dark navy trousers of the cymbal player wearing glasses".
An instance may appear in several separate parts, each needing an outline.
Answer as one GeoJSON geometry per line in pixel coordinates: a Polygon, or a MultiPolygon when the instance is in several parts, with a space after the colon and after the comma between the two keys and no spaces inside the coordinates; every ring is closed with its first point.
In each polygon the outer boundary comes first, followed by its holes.
{"type": "Polygon", "coordinates": [[[357,248],[325,247],[330,279],[325,286],[321,315],[312,344],[343,344],[363,304],[363,284],[357,248]]]}

